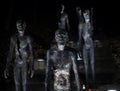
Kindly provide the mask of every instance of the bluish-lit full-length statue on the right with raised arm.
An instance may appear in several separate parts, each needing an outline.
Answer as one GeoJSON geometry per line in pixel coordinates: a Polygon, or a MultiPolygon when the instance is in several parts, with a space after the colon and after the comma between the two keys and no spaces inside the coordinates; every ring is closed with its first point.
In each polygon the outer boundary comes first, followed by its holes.
{"type": "Polygon", "coordinates": [[[79,8],[76,8],[76,10],[77,10],[78,17],[79,17],[79,24],[78,24],[79,47],[83,49],[82,56],[83,56],[84,67],[85,67],[86,82],[89,84],[89,80],[90,80],[89,74],[92,74],[93,81],[95,79],[94,45],[93,45],[93,40],[92,40],[93,25],[90,22],[90,11],[89,10],[85,10],[83,13],[81,9],[79,8]]]}

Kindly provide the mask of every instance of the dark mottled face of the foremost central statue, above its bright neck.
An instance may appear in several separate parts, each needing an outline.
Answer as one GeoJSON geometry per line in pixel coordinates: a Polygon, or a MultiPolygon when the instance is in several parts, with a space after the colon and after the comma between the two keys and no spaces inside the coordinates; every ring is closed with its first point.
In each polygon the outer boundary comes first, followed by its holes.
{"type": "Polygon", "coordinates": [[[65,45],[68,41],[68,34],[65,30],[58,30],[55,33],[55,40],[60,45],[65,45]]]}

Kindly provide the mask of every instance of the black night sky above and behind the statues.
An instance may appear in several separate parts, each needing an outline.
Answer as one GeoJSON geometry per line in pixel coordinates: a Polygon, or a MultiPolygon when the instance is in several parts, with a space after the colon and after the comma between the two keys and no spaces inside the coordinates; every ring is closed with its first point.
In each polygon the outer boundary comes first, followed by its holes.
{"type": "Polygon", "coordinates": [[[95,35],[99,33],[118,35],[118,7],[117,2],[113,0],[4,0],[1,1],[1,35],[10,36],[15,33],[16,20],[24,19],[28,28],[26,32],[33,37],[44,39],[45,42],[50,42],[57,29],[61,3],[65,5],[69,15],[70,32],[73,35],[71,39],[77,39],[76,6],[80,6],[83,10],[93,8],[95,35]]]}

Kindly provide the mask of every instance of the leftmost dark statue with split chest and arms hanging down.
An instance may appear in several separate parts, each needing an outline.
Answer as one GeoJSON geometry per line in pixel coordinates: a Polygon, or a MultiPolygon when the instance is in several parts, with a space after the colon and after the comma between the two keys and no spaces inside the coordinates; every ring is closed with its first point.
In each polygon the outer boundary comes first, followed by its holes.
{"type": "Polygon", "coordinates": [[[16,22],[18,34],[11,37],[10,50],[7,57],[6,69],[4,76],[7,79],[9,76],[9,65],[14,56],[14,81],[16,91],[26,91],[27,88],[27,58],[30,53],[29,73],[33,77],[33,52],[32,39],[24,35],[26,23],[23,20],[16,22]],[[21,88],[22,87],[22,88],[21,88]],[[22,89],[22,90],[21,90],[22,89]]]}

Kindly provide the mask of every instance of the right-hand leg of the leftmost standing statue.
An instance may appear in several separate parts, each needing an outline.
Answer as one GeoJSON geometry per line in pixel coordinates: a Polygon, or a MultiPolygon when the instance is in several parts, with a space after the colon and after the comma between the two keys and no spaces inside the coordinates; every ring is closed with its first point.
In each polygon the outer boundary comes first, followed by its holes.
{"type": "Polygon", "coordinates": [[[26,66],[24,66],[22,68],[22,87],[23,87],[23,91],[27,90],[27,68],[26,66]]]}

